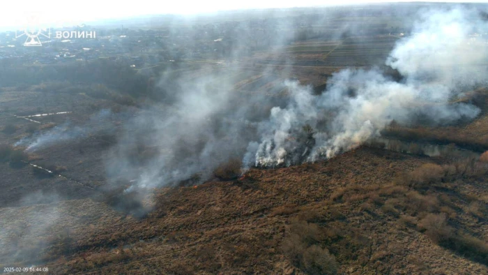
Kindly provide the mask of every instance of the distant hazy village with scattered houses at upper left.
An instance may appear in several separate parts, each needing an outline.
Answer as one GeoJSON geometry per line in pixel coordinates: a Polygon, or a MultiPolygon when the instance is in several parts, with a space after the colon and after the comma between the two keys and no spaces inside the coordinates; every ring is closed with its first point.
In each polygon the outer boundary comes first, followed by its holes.
{"type": "MultiPolygon", "coordinates": [[[[262,29],[262,28],[261,28],[262,29]]],[[[86,31],[89,37],[56,37],[56,32],[66,29],[51,29],[49,37],[38,36],[42,45],[26,46],[27,37],[18,32],[0,33],[0,60],[9,64],[59,64],[93,59],[124,59],[132,68],[151,66],[161,62],[178,62],[182,59],[215,59],[229,53],[234,42],[248,42],[241,52],[251,52],[258,47],[270,45],[272,36],[267,31],[239,36],[236,26],[229,23],[207,24],[174,29],[101,29],[84,27],[70,30],[73,33],[86,31]],[[226,38],[227,37],[227,38],[226,38]],[[229,39],[231,37],[231,39],[229,39]],[[234,41],[232,41],[234,40],[234,41]]]]}

